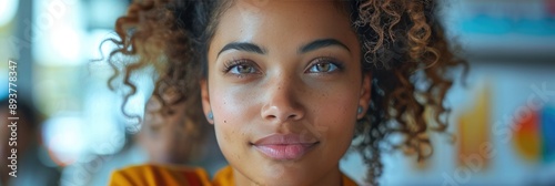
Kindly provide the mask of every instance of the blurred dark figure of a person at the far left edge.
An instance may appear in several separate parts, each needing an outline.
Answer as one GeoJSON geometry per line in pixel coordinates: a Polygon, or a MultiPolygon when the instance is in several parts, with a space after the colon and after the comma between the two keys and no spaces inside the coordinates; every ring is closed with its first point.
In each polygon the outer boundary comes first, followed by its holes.
{"type": "MultiPolygon", "coordinates": [[[[51,161],[40,142],[39,116],[32,105],[18,100],[17,115],[11,115],[7,99],[0,101],[0,185],[14,186],[54,186],[59,185],[61,172],[59,167],[49,167],[44,161],[51,161]],[[19,117],[19,120],[8,120],[8,117],[19,117]],[[10,127],[12,122],[17,122],[16,127],[10,127]],[[14,131],[16,133],[13,133],[14,131]],[[10,141],[10,137],[13,141],[10,141]],[[16,143],[10,143],[16,142],[16,143]],[[10,144],[13,144],[10,146],[10,144]],[[11,151],[17,151],[17,177],[9,175],[12,169],[7,165],[12,165],[11,151]],[[41,157],[42,156],[42,157],[41,157]]],[[[12,125],[13,126],[13,125],[12,125]]]]}

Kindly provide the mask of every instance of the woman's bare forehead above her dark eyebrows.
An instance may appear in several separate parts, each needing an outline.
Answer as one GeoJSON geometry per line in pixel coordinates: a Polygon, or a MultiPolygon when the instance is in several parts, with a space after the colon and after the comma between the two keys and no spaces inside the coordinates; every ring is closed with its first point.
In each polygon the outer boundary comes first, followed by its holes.
{"type": "Polygon", "coordinates": [[[280,44],[275,41],[346,40],[354,35],[351,25],[340,1],[238,0],[221,14],[214,34],[219,39],[210,45],[236,41],[280,44]]]}

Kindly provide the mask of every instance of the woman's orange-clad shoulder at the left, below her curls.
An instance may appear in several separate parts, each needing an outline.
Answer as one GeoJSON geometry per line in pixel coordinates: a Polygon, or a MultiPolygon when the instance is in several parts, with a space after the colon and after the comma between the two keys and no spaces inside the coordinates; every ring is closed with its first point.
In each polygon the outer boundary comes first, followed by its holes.
{"type": "Polygon", "coordinates": [[[110,185],[210,185],[202,168],[173,165],[134,165],[112,173],[110,185]]]}

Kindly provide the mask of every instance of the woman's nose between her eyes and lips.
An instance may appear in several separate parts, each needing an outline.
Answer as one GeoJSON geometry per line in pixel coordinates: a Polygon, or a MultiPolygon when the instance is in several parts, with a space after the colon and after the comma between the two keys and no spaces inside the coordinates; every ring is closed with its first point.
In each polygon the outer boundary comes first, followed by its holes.
{"type": "Polygon", "coordinates": [[[270,83],[265,94],[266,102],[261,111],[262,118],[279,123],[303,118],[305,111],[299,102],[302,100],[297,90],[302,89],[300,86],[293,79],[284,75],[270,83]]]}

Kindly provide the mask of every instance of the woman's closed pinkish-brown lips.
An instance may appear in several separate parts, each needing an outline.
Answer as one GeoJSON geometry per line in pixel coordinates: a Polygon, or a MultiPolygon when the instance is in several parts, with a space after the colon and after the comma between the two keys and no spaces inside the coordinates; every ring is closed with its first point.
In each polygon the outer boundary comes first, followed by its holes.
{"type": "Polygon", "coordinates": [[[303,138],[297,134],[273,134],[258,140],[252,145],[265,156],[276,161],[293,161],[301,158],[319,142],[303,138]]]}

